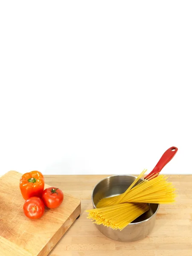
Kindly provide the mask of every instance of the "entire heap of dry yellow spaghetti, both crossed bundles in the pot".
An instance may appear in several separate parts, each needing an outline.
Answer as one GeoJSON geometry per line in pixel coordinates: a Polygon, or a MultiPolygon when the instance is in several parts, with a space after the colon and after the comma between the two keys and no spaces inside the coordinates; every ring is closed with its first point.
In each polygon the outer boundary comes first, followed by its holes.
{"type": "Polygon", "coordinates": [[[93,223],[98,225],[103,224],[115,230],[122,230],[148,211],[148,204],[174,203],[176,189],[171,182],[167,181],[165,175],[152,174],[147,180],[137,184],[146,171],[146,169],[143,170],[121,195],[103,198],[96,205],[96,209],[87,210],[87,218],[92,219],[93,223]]]}

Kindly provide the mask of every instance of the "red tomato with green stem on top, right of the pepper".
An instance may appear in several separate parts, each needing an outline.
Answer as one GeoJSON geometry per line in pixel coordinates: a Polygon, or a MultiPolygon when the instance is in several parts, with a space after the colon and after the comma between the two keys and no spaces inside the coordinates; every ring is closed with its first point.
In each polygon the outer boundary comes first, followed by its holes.
{"type": "Polygon", "coordinates": [[[44,190],[41,198],[44,201],[45,206],[48,208],[57,208],[63,202],[63,192],[61,189],[50,187],[44,190]]]}

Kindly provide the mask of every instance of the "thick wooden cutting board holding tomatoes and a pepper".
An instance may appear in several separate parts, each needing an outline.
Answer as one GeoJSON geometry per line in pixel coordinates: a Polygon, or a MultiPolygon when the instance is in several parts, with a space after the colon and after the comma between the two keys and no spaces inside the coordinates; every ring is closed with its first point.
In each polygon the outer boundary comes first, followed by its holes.
{"type": "Polygon", "coordinates": [[[60,207],[45,209],[41,218],[31,220],[23,212],[21,176],[10,171],[0,177],[0,255],[47,256],[80,215],[81,201],[64,193],[60,207]]]}

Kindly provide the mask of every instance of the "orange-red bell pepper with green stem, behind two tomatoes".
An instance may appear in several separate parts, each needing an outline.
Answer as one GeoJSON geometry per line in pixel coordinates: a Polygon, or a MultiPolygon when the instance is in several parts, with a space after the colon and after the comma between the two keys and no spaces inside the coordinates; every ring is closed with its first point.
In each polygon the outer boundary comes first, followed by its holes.
{"type": "Polygon", "coordinates": [[[44,191],[44,176],[41,172],[26,172],[20,178],[20,192],[25,200],[30,197],[41,197],[44,191]]]}

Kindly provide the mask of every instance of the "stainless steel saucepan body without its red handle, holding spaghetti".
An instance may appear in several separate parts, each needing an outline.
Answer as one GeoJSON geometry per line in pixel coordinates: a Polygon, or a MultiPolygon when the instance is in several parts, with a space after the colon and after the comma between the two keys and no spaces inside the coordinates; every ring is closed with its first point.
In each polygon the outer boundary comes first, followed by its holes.
{"type": "MultiPolygon", "coordinates": [[[[132,175],[113,175],[99,181],[92,192],[93,207],[96,208],[96,204],[102,198],[120,195],[125,192],[125,190],[134,182],[136,178],[137,177],[132,175]]],[[[140,183],[142,180],[143,179],[140,179],[138,183],[140,183]]],[[[113,230],[111,227],[105,227],[102,224],[95,225],[103,235],[115,241],[133,242],[144,239],[154,228],[159,204],[149,204],[149,207],[150,209],[148,212],[145,212],[121,231],[113,230]]]]}

